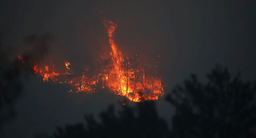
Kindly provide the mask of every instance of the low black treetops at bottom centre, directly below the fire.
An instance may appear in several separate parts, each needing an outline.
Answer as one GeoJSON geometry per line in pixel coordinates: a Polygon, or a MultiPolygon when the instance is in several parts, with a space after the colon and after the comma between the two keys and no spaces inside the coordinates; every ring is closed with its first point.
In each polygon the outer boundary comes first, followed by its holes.
{"type": "Polygon", "coordinates": [[[112,138],[150,138],[166,137],[167,124],[159,119],[154,102],[138,103],[136,108],[122,105],[123,110],[116,115],[114,107],[100,113],[102,123],[96,122],[92,115],[85,115],[86,127],[82,124],[67,125],[65,130],[58,127],[56,138],[112,137],[112,138]],[[138,113],[138,116],[135,115],[138,113]]]}

